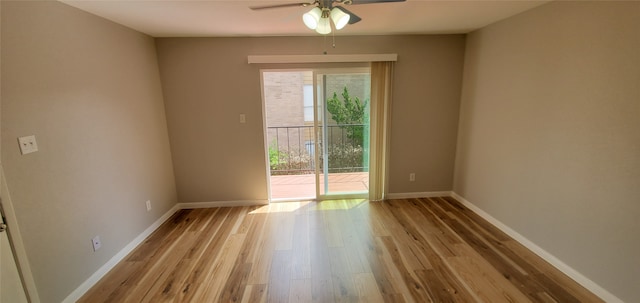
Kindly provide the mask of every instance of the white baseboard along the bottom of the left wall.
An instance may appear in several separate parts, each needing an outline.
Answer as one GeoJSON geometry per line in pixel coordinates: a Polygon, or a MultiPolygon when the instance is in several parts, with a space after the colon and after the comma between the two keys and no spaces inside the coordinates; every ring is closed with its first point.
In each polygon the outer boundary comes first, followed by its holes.
{"type": "Polygon", "coordinates": [[[169,211],[167,211],[162,217],[153,222],[151,226],[145,229],[140,235],[138,235],[133,241],[129,242],[122,250],[120,250],[115,256],[113,256],[107,263],[102,265],[89,279],[80,284],[71,294],[69,294],[62,302],[73,303],[78,301],[91,287],[93,287],[102,277],[104,277],[111,269],[113,269],[120,261],[122,261],[129,253],[131,253],[140,243],[142,243],[149,235],[151,235],[162,223],[167,221],[171,215],[178,211],[178,205],[174,205],[169,211]]]}

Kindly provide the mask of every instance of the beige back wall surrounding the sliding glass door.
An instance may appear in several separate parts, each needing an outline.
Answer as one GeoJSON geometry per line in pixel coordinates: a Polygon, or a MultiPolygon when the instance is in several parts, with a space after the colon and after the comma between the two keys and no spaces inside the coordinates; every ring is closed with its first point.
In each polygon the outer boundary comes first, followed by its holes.
{"type": "MultiPolygon", "coordinates": [[[[391,193],[452,188],[464,41],[464,35],[336,37],[336,48],[328,49],[398,54],[391,193]],[[411,172],[416,182],[408,181],[411,172]]],[[[259,71],[277,66],[249,65],[247,56],[321,54],[323,42],[320,36],[156,39],[180,202],[267,199],[259,71]],[[239,123],[241,113],[246,124],[239,123]]]]}

